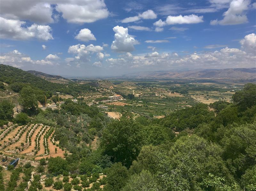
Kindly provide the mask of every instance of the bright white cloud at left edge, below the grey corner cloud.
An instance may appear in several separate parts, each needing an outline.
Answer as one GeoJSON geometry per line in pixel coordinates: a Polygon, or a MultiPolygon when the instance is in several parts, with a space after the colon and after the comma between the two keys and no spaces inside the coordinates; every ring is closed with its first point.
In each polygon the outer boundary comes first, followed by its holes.
{"type": "Polygon", "coordinates": [[[28,27],[23,27],[25,21],[0,18],[0,36],[4,39],[11,40],[52,40],[51,27],[44,25],[33,24],[28,27]]]}

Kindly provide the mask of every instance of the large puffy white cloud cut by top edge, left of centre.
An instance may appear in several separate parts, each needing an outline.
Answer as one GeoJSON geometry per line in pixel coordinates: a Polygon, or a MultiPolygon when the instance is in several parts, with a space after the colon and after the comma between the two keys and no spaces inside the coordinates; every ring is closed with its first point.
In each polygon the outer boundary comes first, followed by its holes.
{"type": "Polygon", "coordinates": [[[56,10],[68,23],[92,23],[107,18],[108,9],[104,1],[57,1],[56,10]]]}

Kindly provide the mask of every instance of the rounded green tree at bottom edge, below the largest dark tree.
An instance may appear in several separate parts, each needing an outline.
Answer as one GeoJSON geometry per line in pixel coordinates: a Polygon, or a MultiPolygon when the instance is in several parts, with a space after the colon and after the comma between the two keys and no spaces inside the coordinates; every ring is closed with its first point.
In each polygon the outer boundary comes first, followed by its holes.
{"type": "Polygon", "coordinates": [[[121,163],[115,163],[107,171],[107,191],[121,190],[128,178],[128,170],[121,163]]]}

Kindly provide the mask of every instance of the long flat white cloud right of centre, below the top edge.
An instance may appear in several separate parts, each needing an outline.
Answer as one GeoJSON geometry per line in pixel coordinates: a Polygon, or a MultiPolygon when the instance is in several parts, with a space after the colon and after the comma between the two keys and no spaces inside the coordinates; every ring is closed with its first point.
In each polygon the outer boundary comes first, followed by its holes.
{"type": "Polygon", "coordinates": [[[159,19],[154,23],[156,27],[163,27],[165,25],[176,25],[176,24],[196,24],[204,22],[203,16],[197,15],[179,15],[179,16],[168,16],[165,21],[159,19]]]}

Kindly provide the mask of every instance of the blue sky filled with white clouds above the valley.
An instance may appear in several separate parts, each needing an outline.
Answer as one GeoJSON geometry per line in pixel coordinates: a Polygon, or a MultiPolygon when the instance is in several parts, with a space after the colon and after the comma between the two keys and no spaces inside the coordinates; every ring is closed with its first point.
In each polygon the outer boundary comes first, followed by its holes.
{"type": "Polygon", "coordinates": [[[0,63],[70,77],[256,67],[255,0],[0,0],[0,63]]]}

